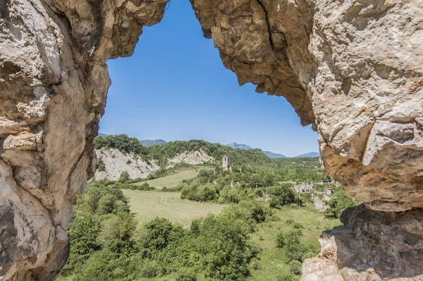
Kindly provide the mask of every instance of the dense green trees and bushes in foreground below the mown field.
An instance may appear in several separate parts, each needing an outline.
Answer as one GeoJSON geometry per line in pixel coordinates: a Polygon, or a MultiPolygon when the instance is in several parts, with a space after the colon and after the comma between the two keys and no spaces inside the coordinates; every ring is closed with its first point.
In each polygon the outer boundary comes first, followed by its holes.
{"type": "Polygon", "coordinates": [[[140,227],[129,213],[121,182],[92,181],[75,199],[71,255],[59,280],[136,280],[176,273],[177,280],[243,280],[255,248],[249,234],[271,212],[243,201],[192,222],[190,229],[155,218],[140,227]]]}

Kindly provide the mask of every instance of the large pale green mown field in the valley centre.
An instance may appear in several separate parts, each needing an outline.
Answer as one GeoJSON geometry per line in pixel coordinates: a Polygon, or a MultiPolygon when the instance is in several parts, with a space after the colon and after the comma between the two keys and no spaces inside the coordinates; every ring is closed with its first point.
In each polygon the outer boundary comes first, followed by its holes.
{"type": "Polygon", "coordinates": [[[172,222],[179,222],[184,226],[190,225],[197,217],[208,213],[220,213],[226,207],[211,203],[200,203],[180,199],[180,193],[131,191],[123,189],[123,194],[130,198],[130,210],[137,214],[140,223],[148,222],[154,217],[165,217],[172,222]]]}

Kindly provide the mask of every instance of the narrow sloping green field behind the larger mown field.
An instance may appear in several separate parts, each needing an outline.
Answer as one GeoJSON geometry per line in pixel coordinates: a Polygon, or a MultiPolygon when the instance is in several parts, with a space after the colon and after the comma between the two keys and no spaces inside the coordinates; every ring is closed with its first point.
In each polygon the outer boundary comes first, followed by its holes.
{"type": "Polygon", "coordinates": [[[135,185],[142,185],[147,182],[149,186],[153,186],[156,189],[163,189],[164,186],[167,188],[178,186],[178,184],[183,181],[183,179],[192,179],[193,177],[197,177],[200,169],[212,169],[213,167],[209,166],[200,166],[197,169],[183,169],[176,174],[171,174],[166,177],[161,177],[158,179],[150,179],[149,181],[140,181],[137,182],[135,185]]]}

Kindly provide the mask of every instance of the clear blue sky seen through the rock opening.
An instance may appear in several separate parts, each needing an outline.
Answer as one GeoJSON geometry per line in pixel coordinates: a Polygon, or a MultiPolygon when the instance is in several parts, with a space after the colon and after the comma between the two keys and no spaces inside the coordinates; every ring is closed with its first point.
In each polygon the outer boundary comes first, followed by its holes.
{"type": "Polygon", "coordinates": [[[135,53],[109,60],[111,87],[101,133],[141,139],[233,141],[295,156],[319,151],[284,97],[238,85],[188,0],[173,0],[161,23],[144,28],[135,53]]]}

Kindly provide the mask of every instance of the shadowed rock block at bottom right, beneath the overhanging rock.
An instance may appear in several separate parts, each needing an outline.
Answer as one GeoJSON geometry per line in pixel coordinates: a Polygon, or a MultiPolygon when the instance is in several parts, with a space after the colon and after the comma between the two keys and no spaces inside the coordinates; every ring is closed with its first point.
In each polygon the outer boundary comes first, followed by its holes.
{"type": "Polygon", "coordinates": [[[321,252],[305,260],[302,281],[423,280],[423,210],[348,208],[342,227],[323,232],[321,252]]]}

